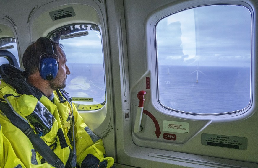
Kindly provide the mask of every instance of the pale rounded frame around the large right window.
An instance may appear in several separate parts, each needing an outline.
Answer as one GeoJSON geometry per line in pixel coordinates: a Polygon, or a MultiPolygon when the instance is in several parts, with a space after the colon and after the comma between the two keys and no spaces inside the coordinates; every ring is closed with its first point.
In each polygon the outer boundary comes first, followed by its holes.
{"type": "MultiPolygon", "coordinates": [[[[147,45],[146,50],[147,54],[151,55],[151,60],[149,61],[149,68],[152,71],[151,73],[151,85],[152,88],[150,91],[152,92],[152,104],[153,107],[160,113],[163,113],[165,115],[170,115],[173,117],[178,118],[184,118],[184,119],[194,119],[194,120],[213,120],[213,122],[223,122],[225,120],[241,120],[246,118],[247,116],[252,115],[254,113],[254,108],[256,106],[255,100],[256,100],[256,89],[255,89],[255,83],[254,83],[254,74],[255,74],[255,51],[257,50],[255,47],[255,38],[254,35],[256,34],[255,25],[257,22],[255,21],[255,5],[252,4],[250,1],[240,2],[240,1],[191,1],[192,3],[178,3],[174,4],[173,6],[165,7],[164,9],[156,12],[155,14],[152,14],[145,25],[145,32],[147,34],[147,45]],[[244,6],[247,9],[249,9],[251,13],[251,98],[249,105],[243,109],[238,110],[236,112],[227,112],[227,113],[220,113],[220,114],[199,114],[199,113],[190,113],[190,112],[182,112],[179,110],[174,110],[169,107],[165,107],[162,105],[159,101],[159,93],[158,93],[158,63],[157,63],[157,46],[156,46],[156,25],[158,22],[168,17],[172,14],[175,14],[177,12],[181,12],[187,9],[192,9],[195,7],[200,6],[209,6],[209,5],[238,5],[238,6],[244,6]],[[149,36],[148,36],[149,35],[149,36]],[[148,47],[149,46],[149,47],[148,47]],[[151,49],[148,49],[151,48],[151,49]]],[[[257,9],[255,9],[257,10],[257,9]]]]}

